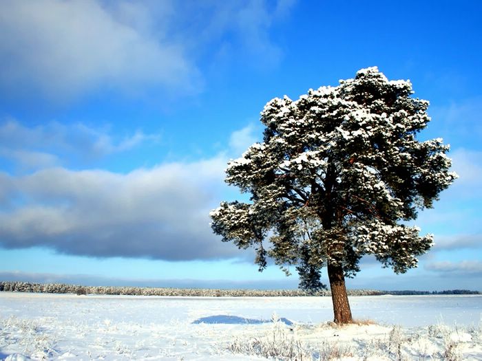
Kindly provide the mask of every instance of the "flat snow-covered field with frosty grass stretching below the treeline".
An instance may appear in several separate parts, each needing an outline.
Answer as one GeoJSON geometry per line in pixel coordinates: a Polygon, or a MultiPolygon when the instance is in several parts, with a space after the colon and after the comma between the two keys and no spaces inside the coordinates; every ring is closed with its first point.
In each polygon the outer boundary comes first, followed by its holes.
{"type": "Polygon", "coordinates": [[[482,296],[167,298],[0,292],[6,360],[482,360],[482,296]],[[275,322],[273,322],[273,320],[275,322]]]}

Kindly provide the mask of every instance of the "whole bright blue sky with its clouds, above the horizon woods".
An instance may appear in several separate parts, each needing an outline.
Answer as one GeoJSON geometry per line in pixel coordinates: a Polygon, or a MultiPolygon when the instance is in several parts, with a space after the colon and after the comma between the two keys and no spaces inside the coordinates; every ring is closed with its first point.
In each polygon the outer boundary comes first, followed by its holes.
{"type": "Polygon", "coordinates": [[[480,1],[0,6],[0,279],[297,287],[212,234],[209,210],[243,197],[224,168],[271,98],[377,66],[430,100],[420,138],[451,144],[460,178],[415,222],[436,243],[416,270],[368,257],[348,287],[482,290],[480,1]]]}

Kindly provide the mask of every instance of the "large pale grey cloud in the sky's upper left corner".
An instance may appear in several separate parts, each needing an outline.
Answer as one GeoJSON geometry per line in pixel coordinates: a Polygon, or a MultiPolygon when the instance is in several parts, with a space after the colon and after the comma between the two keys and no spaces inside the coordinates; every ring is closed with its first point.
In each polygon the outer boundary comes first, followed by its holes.
{"type": "Polygon", "coordinates": [[[106,84],[195,87],[196,67],[182,43],[139,28],[151,16],[145,3],[3,1],[0,85],[54,99],[106,84]]]}

